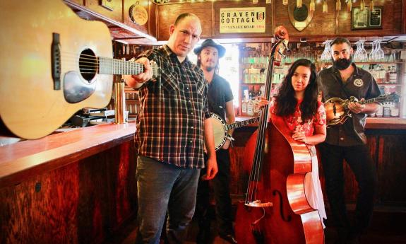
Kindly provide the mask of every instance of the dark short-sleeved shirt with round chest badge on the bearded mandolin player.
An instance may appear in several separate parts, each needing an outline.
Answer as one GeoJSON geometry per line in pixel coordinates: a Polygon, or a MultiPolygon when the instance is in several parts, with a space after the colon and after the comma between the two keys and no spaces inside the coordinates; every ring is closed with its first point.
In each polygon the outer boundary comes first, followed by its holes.
{"type": "MultiPolygon", "coordinates": [[[[381,95],[378,84],[371,74],[354,63],[354,73],[343,82],[340,71],[331,66],[318,73],[318,88],[323,92],[323,102],[330,98],[348,99],[354,96],[360,100],[376,98],[381,95]]],[[[352,114],[344,124],[336,124],[327,128],[326,143],[336,146],[357,146],[366,144],[364,134],[366,114],[352,114]]]]}

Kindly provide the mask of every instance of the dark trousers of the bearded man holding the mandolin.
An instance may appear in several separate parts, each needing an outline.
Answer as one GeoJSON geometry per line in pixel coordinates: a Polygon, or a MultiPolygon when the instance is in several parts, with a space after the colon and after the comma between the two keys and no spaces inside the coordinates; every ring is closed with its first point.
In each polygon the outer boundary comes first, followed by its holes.
{"type": "Polygon", "coordinates": [[[326,178],[326,193],[333,221],[341,237],[359,235],[369,226],[374,210],[374,194],[376,190],[376,167],[369,149],[362,146],[319,145],[321,163],[326,178]],[[350,165],[358,182],[359,193],[355,208],[354,223],[347,218],[344,197],[343,160],[350,165]]]}

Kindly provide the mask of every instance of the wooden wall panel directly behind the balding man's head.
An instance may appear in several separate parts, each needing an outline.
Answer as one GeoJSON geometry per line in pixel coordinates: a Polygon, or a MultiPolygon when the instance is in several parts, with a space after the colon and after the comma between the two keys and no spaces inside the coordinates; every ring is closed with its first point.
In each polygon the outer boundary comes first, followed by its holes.
{"type": "Polygon", "coordinates": [[[175,22],[177,16],[181,13],[194,13],[200,18],[202,25],[202,38],[213,36],[211,5],[212,3],[210,1],[204,1],[195,2],[193,4],[164,4],[158,6],[157,40],[169,39],[169,26],[175,22]]]}

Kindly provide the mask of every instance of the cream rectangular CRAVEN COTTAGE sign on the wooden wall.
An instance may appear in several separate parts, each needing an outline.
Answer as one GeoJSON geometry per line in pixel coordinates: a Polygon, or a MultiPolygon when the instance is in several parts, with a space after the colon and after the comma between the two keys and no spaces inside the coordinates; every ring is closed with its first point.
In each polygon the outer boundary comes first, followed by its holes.
{"type": "Polygon", "coordinates": [[[265,33],[265,7],[220,8],[220,33],[265,33]]]}

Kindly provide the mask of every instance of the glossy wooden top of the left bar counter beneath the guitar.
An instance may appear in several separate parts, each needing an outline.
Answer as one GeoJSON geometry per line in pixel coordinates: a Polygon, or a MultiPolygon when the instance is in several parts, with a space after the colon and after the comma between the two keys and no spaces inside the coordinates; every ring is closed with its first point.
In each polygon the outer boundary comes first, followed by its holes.
{"type": "Polygon", "coordinates": [[[99,124],[0,146],[0,187],[133,140],[136,123],[99,124]]]}

